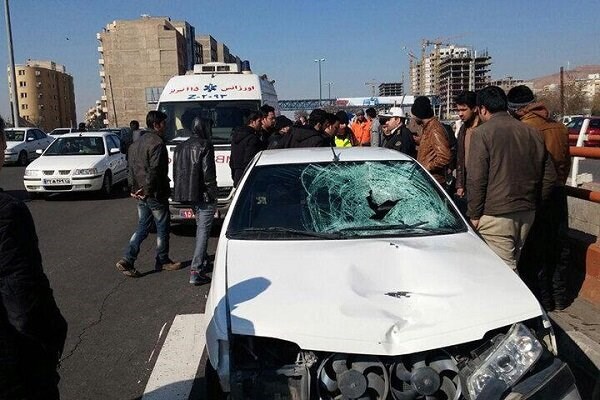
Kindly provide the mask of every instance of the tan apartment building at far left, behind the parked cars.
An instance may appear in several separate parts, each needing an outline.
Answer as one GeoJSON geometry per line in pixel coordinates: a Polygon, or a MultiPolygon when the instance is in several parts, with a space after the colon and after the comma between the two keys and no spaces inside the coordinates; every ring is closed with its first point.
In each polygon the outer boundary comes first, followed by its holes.
{"type": "MultiPolygon", "coordinates": [[[[17,103],[20,120],[49,132],[77,125],[73,77],[54,61],[27,60],[15,65],[17,103]]],[[[9,91],[13,85],[8,67],[9,91]]]]}

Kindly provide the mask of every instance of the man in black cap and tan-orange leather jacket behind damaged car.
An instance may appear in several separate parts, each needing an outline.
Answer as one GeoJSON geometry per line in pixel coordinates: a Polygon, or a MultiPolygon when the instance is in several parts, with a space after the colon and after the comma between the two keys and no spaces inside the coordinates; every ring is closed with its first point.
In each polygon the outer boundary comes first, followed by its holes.
{"type": "Polygon", "coordinates": [[[429,98],[419,96],[415,99],[411,109],[415,122],[423,129],[419,141],[417,161],[427,170],[441,185],[446,182],[446,168],[452,160],[452,153],[446,130],[433,116],[433,108],[429,98]]]}

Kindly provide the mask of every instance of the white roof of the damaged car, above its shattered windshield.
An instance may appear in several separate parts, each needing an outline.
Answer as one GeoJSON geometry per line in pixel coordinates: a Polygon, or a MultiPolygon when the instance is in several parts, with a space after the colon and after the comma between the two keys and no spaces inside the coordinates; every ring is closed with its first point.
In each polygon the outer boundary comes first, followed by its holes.
{"type": "Polygon", "coordinates": [[[303,164],[331,162],[333,152],[339,161],[412,161],[404,153],[382,147],[307,147],[300,149],[265,150],[256,165],[303,164]]]}

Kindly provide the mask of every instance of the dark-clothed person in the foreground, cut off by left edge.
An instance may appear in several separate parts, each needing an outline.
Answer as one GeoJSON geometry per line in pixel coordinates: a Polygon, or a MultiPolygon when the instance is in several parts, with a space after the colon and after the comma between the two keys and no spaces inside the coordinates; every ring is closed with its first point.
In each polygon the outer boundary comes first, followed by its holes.
{"type": "MultiPolygon", "coordinates": [[[[0,118],[0,170],[4,150],[0,118]]],[[[66,334],[31,213],[0,189],[0,399],[57,400],[66,334]]]]}

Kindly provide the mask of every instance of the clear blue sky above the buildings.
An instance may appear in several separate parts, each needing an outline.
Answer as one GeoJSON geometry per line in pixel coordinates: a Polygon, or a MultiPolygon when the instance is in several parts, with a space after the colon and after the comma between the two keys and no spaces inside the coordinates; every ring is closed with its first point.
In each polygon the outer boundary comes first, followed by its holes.
{"type": "MultiPolygon", "coordinates": [[[[422,39],[488,50],[493,79],[600,64],[597,0],[10,0],[10,13],[15,63],[65,65],[80,120],[101,96],[96,33],[142,14],[186,20],[196,34],[211,34],[275,79],[279,99],[318,98],[317,58],[325,58],[323,97],[326,82],[332,97],[369,96],[367,82],[398,82],[403,74],[408,88],[405,49],[419,56],[422,39]]],[[[1,25],[0,65],[7,66],[4,18],[1,25]]],[[[6,75],[0,115],[10,115],[6,75]]]]}

